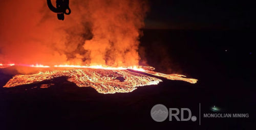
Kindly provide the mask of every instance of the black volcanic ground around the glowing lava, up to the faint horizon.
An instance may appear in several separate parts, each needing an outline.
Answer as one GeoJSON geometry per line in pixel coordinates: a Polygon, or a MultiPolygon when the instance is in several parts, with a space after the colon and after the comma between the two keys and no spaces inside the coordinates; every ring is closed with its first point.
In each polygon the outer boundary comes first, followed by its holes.
{"type": "MultiPolygon", "coordinates": [[[[138,87],[131,93],[100,94],[90,87],[77,87],[66,77],[58,77],[0,88],[0,129],[255,129],[254,34],[144,30],[140,50],[146,53],[140,55],[148,65],[158,72],[187,75],[198,79],[198,83],[161,78],[163,82],[159,85],[138,87]],[[39,88],[44,84],[54,85],[39,88]],[[167,118],[155,122],[150,111],[159,103],[167,108],[189,108],[197,121],[167,118]],[[210,111],[214,105],[222,108],[221,113],[249,117],[204,118],[203,114],[215,113],[210,111]]],[[[14,68],[8,73],[0,69],[1,87],[16,74],[14,68]]]]}

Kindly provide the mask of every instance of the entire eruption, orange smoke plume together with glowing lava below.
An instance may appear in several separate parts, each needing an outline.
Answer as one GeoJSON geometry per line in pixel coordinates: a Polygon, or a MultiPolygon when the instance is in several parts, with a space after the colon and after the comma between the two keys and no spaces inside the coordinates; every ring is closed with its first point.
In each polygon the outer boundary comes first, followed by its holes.
{"type": "Polygon", "coordinates": [[[8,0],[0,4],[0,68],[15,64],[40,70],[15,75],[4,87],[59,76],[68,76],[68,81],[77,86],[91,86],[99,93],[131,92],[138,86],[161,82],[147,74],[197,82],[184,75],[163,74],[154,72],[153,67],[138,66],[142,61],[139,36],[148,10],[146,1],[74,0],[69,6],[72,14],[61,21],[48,9],[46,0],[8,0]]]}

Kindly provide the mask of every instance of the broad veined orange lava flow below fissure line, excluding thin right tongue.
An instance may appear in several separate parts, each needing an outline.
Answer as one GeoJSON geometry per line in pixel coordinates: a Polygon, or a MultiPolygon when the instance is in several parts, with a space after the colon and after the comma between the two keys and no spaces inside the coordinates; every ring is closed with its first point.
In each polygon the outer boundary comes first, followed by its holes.
{"type": "Polygon", "coordinates": [[[68,81],[79,87],[92,87],[99,93],[132,92],[138,86],[157,85],[161,80],[129,70],[107,70],[93,68],[65,68],[63,70],[45,70],[36,74],[15,75],[4,87],[31,84],[38,81],[50,80],[54,77],[68,76],[68,81]],[[123,77],[124,82],[117,80],[123,77]]]}

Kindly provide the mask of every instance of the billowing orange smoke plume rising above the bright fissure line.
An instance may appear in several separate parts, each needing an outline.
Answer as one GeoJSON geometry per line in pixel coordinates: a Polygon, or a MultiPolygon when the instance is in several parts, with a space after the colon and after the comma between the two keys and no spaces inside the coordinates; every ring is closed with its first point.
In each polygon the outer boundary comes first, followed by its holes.
{"type": "Polygon", "coordinates": [[[3,1],[0,63],[138,65],[144,1],[70,0],[70,8],[61,21],[46,0],[3,1]]]}

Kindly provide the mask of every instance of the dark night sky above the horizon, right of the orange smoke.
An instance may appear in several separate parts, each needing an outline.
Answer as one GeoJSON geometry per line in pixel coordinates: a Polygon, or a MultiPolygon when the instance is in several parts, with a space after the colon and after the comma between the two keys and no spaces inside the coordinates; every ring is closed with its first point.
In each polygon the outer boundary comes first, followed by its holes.
{"type": "Polygon", "coordinates": [[[146,29],[256,29],[255,4],[231,0],[149,0],[146,29]]]}

